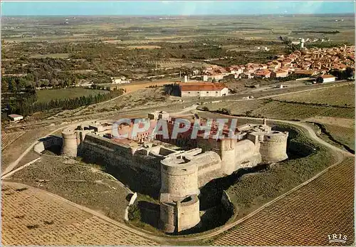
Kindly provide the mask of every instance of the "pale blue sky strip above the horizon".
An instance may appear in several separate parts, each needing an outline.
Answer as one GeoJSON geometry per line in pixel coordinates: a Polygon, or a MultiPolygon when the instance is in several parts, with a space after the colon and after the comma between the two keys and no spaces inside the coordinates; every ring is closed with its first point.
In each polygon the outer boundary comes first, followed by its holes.
{"type": "Polygon", "coordinates": [[[1,1],[2,16],[346,14],[355,1],[1,1]]]}

